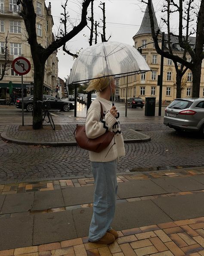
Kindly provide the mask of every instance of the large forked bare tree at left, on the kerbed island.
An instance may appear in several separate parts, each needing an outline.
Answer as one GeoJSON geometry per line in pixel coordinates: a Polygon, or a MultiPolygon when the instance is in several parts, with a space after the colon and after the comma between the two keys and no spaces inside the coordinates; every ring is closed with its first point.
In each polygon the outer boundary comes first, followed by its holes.
{"type": "Polygon", "coordinates": [[[43,46],[37,42],[36,13],[34,11],[33,0],[18,0],[18,3],[22,4],[20,16],[22,16],[25,22],[25,28],[28,33],[28,44],[31,47],[31,55],[34,63],[33,129],[43,127],[42,109],[38,106],[37,100],[42,100],[43,98],[43,80],[46,60],[49,58],[49,55],[65,45],[66,42],[87,26],[87,8],[90,2],[91,0],[83,0],[81,20],[77,26],[74,26],[66,35],[62,35],[62,37],[53,40],[47,48],[43,48],[43,46]]]}

